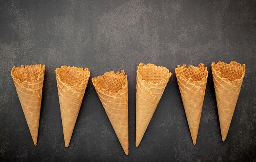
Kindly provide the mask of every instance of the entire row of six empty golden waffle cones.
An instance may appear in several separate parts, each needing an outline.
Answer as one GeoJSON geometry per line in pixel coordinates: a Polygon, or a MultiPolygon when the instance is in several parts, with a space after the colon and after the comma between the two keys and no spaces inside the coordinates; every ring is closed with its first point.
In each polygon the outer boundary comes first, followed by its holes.
{"type": "MultiPolygon", "coordinates": [[[[222,140],[227,137],[231,119],[245,75],[245,65],[231,61],[212,63],[212,74],[222,140]]],[[[58,97],[65,147],[68,147],[79,114],[90,71],[88,68],[62,66],[56,68],[58,97]]],[[[34,144],[37,144],[42,88],[45,65],[37,64],[13,67],[11,76],[29,126],[34,144]]],[[[189,124],[193,144],[196,143],[203,107],[208,71],[204,64],[197,67],[178,65],[175,68],[177,82],[189,124]]],[[[140,63],[137,69],[136,93],[136,147],[150,123],[157,104],[171,77],[165,67],[140,63]]],[[[124,70],[106,72],[92,78],[99,99],[108,115],[110,123],[128,155],[128,80],[124,70]]]]}

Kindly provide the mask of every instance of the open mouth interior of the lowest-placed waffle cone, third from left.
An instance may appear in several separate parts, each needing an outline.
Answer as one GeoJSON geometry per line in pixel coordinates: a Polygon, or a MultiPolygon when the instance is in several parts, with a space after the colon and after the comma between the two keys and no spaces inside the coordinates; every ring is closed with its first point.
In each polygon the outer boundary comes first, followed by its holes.
{"type": "Polygon", "coordinates": [[[120,72],[106,72],[104,75],[98,76],[93,79],[95,85],[101,89],[108,92],[118,92],[126,84],[126,75],[124,71],[120,72]]]}

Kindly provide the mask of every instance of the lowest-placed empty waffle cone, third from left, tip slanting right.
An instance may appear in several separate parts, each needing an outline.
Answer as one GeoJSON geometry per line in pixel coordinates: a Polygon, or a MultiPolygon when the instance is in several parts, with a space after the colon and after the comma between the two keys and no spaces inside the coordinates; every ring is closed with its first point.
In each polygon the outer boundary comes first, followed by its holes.
{"type": "Polygon", "coordinates": [[[126,155],[129,153],[128,141],[128,81],[124,70],[106,72],[92,78],[92,83],[117,134],[126,155]]]}

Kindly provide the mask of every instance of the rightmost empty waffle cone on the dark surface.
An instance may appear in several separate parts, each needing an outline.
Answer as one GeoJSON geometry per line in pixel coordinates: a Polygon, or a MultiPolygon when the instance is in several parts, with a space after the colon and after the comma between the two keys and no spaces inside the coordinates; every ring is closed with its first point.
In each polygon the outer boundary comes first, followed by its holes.
{"type": "Polygon", "coordinates": [[[236,102],[245,76],[245,64],[231,61],[211,64],[214,88],[218,105],[222,141],[227,138],[236,102]]]}

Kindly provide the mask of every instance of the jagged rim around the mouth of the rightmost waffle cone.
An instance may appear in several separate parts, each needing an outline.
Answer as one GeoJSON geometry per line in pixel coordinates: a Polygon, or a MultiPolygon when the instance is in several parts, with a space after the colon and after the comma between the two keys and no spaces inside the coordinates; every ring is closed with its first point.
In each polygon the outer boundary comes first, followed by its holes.
{"type": "Polygon", "coordinates": [[[227,83],[233,83],[233,82],[241,81],[241,80],[243,80],[243,78],[244,78],[244,76],[245,76],[245,64],[241,65],[240,63],[238,63],[238,62],[236,62],[236,61],[230,61],[229,64],[226,63],[226,62],[223,62],[223,61],[218,61],[218,63],[213,62],[213,63],[211,63],[211,70],[212,70],[213,72],[215,72],[215,73],[218,75],[218,77],[220,77],[222,80],[224,80],[224,81],[227,82],[227,83]],[[214,65],[218,65],[218,64],[221,64],[221,63],[224,63],[225,65],[230,65],[231,63],[235,63],[237,66],[240,66],[241,68],[243,68],[243,74],[242,74],[242,76],[241,76],[239,79],[235,79],[234,81],[229,81],[229,79],[227,79],[227,78],[225,78],[225,77],[221,77],[221,76],[220,76],[220,72],[217,71],[217,70],[214,68],[214,65]]]}

